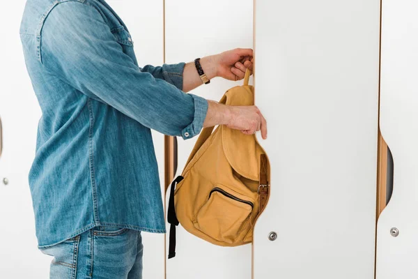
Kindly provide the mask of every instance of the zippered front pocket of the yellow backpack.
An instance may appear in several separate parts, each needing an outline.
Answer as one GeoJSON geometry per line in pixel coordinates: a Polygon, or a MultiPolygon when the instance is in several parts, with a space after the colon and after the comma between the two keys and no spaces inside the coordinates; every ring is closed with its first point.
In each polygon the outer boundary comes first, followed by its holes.
{"type": "Polygon", "coordinates": [[[194,227],[212,239],[232,244],[246,227],[254,201],[222,185],[210,190],[194,220],[194,227]]]}

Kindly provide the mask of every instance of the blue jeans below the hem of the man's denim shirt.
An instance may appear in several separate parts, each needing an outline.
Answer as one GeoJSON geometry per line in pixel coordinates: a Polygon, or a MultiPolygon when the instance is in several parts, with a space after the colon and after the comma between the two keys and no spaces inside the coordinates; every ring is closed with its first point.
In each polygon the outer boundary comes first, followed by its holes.
{"type": "Polygon", "coordinates": [[[141,279],[143,248],[141,232],[100,226],[41,251],[50,279],[141,279]]]}

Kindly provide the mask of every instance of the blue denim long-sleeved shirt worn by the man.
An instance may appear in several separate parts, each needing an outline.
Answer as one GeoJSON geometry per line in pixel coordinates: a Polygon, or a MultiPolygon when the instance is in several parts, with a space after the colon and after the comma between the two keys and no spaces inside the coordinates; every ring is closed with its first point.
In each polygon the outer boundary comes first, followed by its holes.
{"type": "Polygon", "coordinates": [[[150,129],[189,139],[208,110],[182,91],[185,63],[139,68],[104,0],[28,0],[20,36],[42,109],[29,173],[38,247],[98,225],[164,233],[150,129]]]}

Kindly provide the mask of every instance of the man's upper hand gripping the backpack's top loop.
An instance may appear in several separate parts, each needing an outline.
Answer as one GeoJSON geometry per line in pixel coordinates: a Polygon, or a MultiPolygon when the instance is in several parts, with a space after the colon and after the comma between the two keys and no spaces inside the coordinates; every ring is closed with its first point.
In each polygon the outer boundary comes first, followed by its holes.
{"type": "Polygon", "coordinates": [[[217,76],[226,80],[242,80],[245,70],[253,70],[253,50],[237,48],[214,56],[217,76]]]}

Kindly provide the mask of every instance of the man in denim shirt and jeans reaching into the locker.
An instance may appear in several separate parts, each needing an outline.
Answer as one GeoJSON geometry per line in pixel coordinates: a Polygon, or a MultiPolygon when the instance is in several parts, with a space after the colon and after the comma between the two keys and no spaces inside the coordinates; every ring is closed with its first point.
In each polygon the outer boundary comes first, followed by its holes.
{"type": "Polygon", "coordinates": [[[257,107],[185,93],[214,77],[241,80],[253,52],[140,68],[104,0],[29,0],[20,36],[42,109],[29,185],[50,276],[141,278],[141,231],[166,232],[150,129],[187,140],[226,125],[267,137],[257,107]]]}

